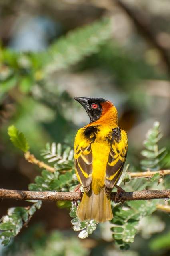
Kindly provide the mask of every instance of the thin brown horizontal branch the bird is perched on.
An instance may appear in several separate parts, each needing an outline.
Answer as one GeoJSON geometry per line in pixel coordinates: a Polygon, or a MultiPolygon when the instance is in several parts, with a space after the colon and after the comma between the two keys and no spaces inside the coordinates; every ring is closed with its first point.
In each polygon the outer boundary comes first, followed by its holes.
{"type": "MultiPolygon", "coordinates": [[[[116,192],[112,192],[110,199],[114,200],[116,192]]],[[[54,192],[54,191],[21,191],[0,189],[1,199],[16,199],[16,200],[43,200],[43,201],[57,201],[57,200],[79,200],[80,195],[77,192],[54,192]]],[[[120,200],[149,200],[149,199],[169,199],[170,189],[168,190],[142,190],[134,192],[122,192],[120,200]]]]}

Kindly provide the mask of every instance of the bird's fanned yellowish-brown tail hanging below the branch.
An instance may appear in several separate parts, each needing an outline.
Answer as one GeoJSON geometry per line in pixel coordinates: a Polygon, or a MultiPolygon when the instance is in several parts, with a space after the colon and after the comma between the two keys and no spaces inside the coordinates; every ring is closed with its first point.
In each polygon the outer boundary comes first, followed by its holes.
{"type": "Polygon", "coordinates": [[[94,194],[92,190],[88,193],[84,192],[76,214],[81,221],[96,220],[96,222],[105,222],[112,220],[110,198],[106,196],[104,188],[100,189],[99,194],[94,194]]]}

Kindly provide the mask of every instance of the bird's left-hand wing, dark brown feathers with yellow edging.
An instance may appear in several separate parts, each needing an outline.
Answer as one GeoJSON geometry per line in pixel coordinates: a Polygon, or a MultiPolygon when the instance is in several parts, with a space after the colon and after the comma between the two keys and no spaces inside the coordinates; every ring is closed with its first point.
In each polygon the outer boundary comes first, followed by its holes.
{"type": "Polygon", "coordinates": [[[84,136],[84,129],[78,130],[74,143],[74,162],[76,174],[84,190],[90,190],[92,182],[92,149],[91,140],[84,136]]]}

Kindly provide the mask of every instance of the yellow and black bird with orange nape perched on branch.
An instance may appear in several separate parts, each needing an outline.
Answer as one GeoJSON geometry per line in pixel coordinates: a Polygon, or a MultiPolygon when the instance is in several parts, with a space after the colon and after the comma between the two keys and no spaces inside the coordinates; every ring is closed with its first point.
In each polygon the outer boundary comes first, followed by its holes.
{"type": "Polygon", "coordinates": [[[118,112],[112,102],[103,98],[74,99],[90,118],[90,123],[78,130],[74,142],[78,188],[82,186],[84,189],[76,214],[81,221],[106,222],[113,218],[112,189],[114,186],[118,188],[118,196],[122,191],[116,184],[126,160],[127,134],[118,126],[118,112]]]}

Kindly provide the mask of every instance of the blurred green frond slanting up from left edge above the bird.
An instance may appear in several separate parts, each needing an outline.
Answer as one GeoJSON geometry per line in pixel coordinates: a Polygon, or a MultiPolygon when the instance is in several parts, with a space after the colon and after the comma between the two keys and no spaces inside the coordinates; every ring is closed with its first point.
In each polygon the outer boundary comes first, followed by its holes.
{"type": "Polygon", "coordinates": [[[62,36],[45,52],[17,53],[0,47],[0,99],[15,86],[28,94],[32,86],[40,84],[49,72],[68,68],[98,52],[111,37],[111,32],[110,20],[103,19],[62,36]]]}

